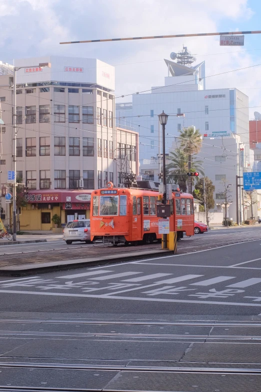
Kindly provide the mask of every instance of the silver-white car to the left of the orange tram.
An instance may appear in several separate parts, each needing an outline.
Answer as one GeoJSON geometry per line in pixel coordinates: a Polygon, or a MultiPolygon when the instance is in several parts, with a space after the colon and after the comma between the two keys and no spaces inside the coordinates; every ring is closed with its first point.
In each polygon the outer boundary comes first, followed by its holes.
{"type": "Polygon", "coordinates": [[[90,220],[81,219],[68,222],[63,229],[62,239],[66,244],[71,244],[73,241],[90,243],[90,220]]]}

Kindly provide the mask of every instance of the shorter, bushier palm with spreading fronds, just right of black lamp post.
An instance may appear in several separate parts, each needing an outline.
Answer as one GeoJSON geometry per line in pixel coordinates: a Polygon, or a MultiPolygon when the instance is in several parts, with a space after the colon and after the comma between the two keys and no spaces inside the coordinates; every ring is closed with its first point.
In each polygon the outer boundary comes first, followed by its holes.
{"type": "MultiPolygon", "coordinates": [[[[175,182],[179,184],[179,188],[181,191],[186,192],[187,190],[187,179],[193,177],[187,177],[188,173],[188,155],[184,153],[183,150],[177,148],[174,152],[170,152],[168,156],[169,162],[166,165],[167,170],[167,182],[175,182]]],[[[191,171],[199,172],[204,175],[203,169],[201,167],[202,161],[193,160],[191,157],[191,171]]]]}

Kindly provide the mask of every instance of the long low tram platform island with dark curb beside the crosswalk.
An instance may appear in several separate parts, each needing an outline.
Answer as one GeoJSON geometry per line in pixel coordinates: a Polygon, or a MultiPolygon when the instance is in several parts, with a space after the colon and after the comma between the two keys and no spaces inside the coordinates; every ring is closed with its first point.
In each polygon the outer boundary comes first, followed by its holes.
{"type": "Polygon", "coordinates": [[[82,258],[76,260],[64,260],[64,261],[50,261],[47,263],[38,263],[38,264],[23,264],[23,265],[14,265],[12,267],[1,267],[0,268],[0,276],[23,276],[34,274],[35,272],[47,272],[47,271],[58,271],[62,269],[71,269],[80,268],[86,265],[102,265],[102,264],[110,264],[120,261],[128,261],[128,260],[139,260],[143,258],[150,258],[156,256],[166,256],[173,255],[173,251],[171,250],[149,250],[144,252],[128,252],[127,256],[125,254],[113,254],[111,256],[107,256],[105,258],[101,257],[90,257],[90,258],[82,258]]]}

